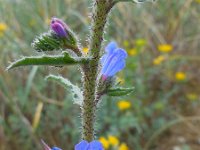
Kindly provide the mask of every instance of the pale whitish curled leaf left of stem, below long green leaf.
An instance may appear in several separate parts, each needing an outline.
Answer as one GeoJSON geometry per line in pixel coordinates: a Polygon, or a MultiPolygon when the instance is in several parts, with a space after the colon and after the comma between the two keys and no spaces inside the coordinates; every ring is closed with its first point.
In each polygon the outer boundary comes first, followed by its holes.
{"type": "Polygon", "coordinates": [[[78,86],[72,84],[68,79],[63,78],[62,76],[49,75],[45,79],[55,81],[58,84],[62,85],[64,88],[70,89],[72,92],[74,103],[80,106],[82,105],[83,94],[82,94],[81,89],[78,86]]]}

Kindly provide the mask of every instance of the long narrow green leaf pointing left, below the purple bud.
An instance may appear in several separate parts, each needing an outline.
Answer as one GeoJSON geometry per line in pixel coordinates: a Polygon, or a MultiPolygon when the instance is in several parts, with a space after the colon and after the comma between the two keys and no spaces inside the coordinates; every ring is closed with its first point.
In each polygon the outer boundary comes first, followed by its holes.
{"type": "Polygon", "coordinates": [[[84,64],[89,61],[89,58],[85,57],[71,57],[67,52],[63,52],[62,55],[43,55],[43,56],[32,56],[24,57],[13,63],[11,63],[7,70],[20,66],[30,65],[44,65],[44,66],[64,66],[71,64],[84,64]]]}

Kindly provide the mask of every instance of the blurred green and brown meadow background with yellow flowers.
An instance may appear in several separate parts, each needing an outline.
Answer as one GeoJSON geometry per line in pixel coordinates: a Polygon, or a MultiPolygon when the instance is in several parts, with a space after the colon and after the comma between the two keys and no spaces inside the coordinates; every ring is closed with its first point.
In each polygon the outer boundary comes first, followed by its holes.
{"type": "MultiPolygon", "coordinates": [[[[62,87],[46,82],[62,74],[80,85],[76,67],[26,67],[5,71],[62,18],[87,48],[91,1],[0,0],[0,150],[72,150],[80,138],[80,108],[62,87]]],[[[110,150],[200,149],[200,1],[158,0],[118,4],[110,14],[105,43],[127,50],[121,85],[127,97],[104,97],[96,137],[110,150]]]]}

